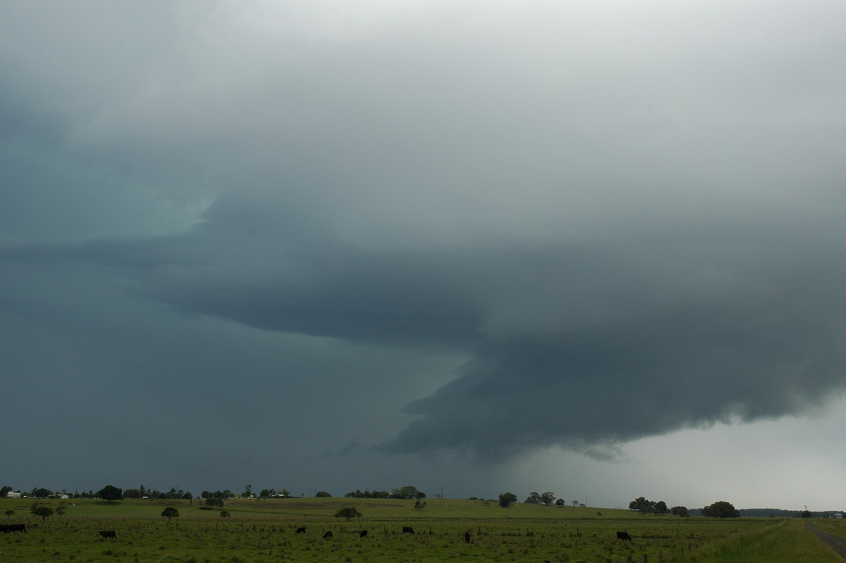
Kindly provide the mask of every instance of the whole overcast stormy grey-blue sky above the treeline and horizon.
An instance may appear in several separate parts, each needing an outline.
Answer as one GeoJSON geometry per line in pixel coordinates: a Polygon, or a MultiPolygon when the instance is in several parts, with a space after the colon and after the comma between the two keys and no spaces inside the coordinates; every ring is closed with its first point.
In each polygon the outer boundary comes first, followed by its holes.
{"type": "Polygon", "coordinates": [[[0,486],[846,509],[844,25],[0,3],[0,486]]]}

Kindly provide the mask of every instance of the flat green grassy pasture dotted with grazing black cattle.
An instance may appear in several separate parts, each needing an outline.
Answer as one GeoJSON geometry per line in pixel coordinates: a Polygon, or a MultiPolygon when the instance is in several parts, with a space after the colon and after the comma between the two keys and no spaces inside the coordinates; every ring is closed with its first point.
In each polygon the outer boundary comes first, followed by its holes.
{"type": "MultiPolygon", "coordinates": [[[[63,516],[30,515],[34,500],[0,500],[0,516],[24,522],[27,533],[0,533],[0,563],[132,561],[265,563],[270,561],[568,561],[664,563],[709,561],[843,561],[802,529],[777,519],[640,516],[629,511],[495,502],[364,499],[228,501],[220,511],[198,501],[65,500],[63,516]],[[70,503],[76,505],[70,505],[70,503]],[[162,518],[173,506],[179,517],[162,518]],[[354,506],[347,522],[332,515],[354,506]],[[305,533],[295,533],[305,527],[305,533]],[[413,527],[415,533],[402,533],[413,527]],[[360,531],[367,530],[365,537],[360,531]],[[114,531],[114,538],[101,531],[114,531]],[[323,538],[332,532],[331,538],[323,538]],[[633,540],[619,540],[618,531],[633,540]],[[464,534],[470,536],[470,543],[464,534]],[[799,556],[797,556],[799,555],[799,556]]],[[[41,501],[58,505],[58,500],[41,501]]],[[[836,533],[836,532],[835,532],[836,533]]]]}

